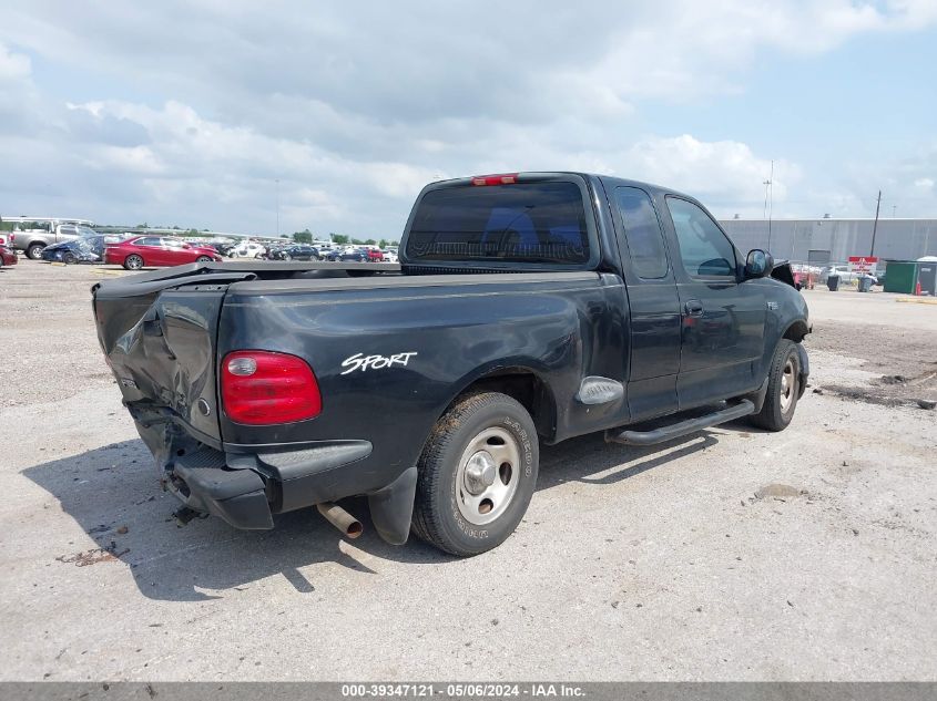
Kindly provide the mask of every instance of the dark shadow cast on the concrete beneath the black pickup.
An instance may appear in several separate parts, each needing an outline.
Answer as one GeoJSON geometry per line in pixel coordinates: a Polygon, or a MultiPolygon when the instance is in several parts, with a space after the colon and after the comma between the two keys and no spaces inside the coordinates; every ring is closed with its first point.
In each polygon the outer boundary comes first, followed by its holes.
{"type": "MultiPolygon", "coordinates": [[[[602,434],[594,434],[542,446],[538,491],[567,482],[614,483],[715,443],[712,434],[702,433],[638,449],[607,444],[602,434]]],[[[417,538],[404,547],[384,543],[371,527],[363,498],[344,502],[365,526],[365,535],[353,545],[315,509],[276,516],[275,528],[267,532],[235,530],[218,518],[195,518],[181,526],[173,516],[180,504],[160,491],[150,453],[139,440],[47,462],[22,474],[53,495],[88,534],[83,545],[75,542],[71,551],[55,558],[57,566],[106,567],[119,560],[152,599],[222,598],[274,575],[308,594],[315,591],[309,580],[314,575],[303,570],[314,565],[376,575],[383,559],[409,564],[454,559],[417,538]]]]}

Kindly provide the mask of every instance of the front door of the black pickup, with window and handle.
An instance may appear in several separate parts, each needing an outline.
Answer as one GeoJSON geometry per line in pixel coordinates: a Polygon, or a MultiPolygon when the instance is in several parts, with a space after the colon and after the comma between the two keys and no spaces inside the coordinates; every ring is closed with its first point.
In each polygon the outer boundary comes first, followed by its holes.
{"type": "Polygon", "coordinates": [[[665,202],[683,318],[680,408],[751,392],[764,352],[762,286],[744,281],[735,247],[705,209],[673,195],[665,202]]]}

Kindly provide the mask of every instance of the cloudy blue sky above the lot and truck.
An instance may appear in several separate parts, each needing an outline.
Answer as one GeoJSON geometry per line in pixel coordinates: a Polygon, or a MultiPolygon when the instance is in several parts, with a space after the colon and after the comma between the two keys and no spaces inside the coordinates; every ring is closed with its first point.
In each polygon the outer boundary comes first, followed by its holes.
{"type": "Polygon", "coordinates": [[[761,217],[773,159],[775,216],[934,217],[935,65],[937,0],[4,0],[0,216],[396,238],[587,169],[761,217]]]}

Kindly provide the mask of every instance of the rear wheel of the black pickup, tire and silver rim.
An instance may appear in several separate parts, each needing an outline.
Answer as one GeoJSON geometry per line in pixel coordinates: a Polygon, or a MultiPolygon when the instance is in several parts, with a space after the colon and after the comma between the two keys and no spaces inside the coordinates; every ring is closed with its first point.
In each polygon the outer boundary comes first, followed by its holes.
{"type": "Polygon", "coordinates": [[[414,533],[458,556],[497,547],[527,512],[538,465],[527,410],[506,394],[469,394],[437,422],[424,446],[414,533]]]}

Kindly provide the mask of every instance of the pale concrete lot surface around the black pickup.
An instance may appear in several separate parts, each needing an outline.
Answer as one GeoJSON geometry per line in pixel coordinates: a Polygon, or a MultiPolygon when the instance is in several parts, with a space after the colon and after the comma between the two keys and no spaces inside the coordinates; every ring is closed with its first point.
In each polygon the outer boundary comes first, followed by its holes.
{"type": "Polygon", "coordinates": [[[179,527],[96,347],[102,275],[0,271],[0,679],[937,678],[937,306],[807,292],[823,393],[787,431],[544,449],[517,534],[459,560],[310,512],[179,527]],[[777,483],[803,493],[755,498],[777,483]]]}

